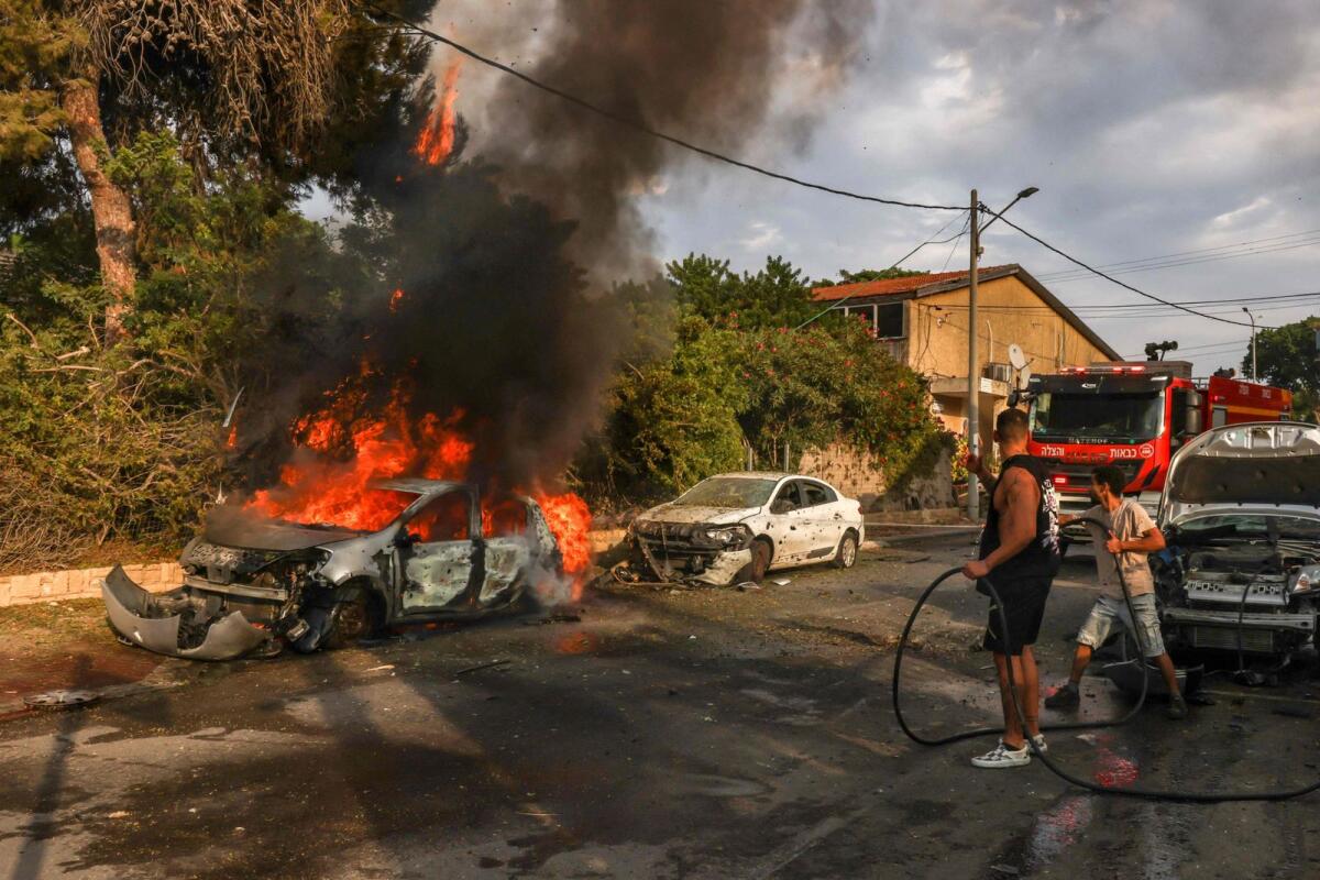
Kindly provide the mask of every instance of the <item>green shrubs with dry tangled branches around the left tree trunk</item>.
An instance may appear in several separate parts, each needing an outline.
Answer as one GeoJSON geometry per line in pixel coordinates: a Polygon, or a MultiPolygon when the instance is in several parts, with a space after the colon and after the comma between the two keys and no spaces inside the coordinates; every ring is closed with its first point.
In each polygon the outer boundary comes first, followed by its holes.
{"type": "Polygon", "coordinates": [[[169,133],[140,136],[107,172],[144,219],[131,343],[102,350],[88,267],[53,280],[58,239],[20,240],[3,278],[18,296],[0,330],[0,566],[65,562],[88,538],[177,546],[222,488],[224,406],[288,368],[253,352],[280,338],[285,358],[313,356],[292,315],[329,322],[339,285],[364,276],[279,187],[234,173],[198,193],[169,133]]]}

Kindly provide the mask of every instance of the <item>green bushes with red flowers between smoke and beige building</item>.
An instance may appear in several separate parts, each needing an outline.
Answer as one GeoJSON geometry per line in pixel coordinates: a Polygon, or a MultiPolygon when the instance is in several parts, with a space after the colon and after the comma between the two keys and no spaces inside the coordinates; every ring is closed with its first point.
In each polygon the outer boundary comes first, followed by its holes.
{"type": "Polygon", "coordinates": [[[737,470],[748,450],[770,463],[784,443],[800,454],[834,442],[871,453],[902,488],[949,447],[921,377],[876,346],[865,322],[791,329],[810,307],[801,309],[805,286],[787,263],[737,276],[727,263],[689,256],[669,276],[684,317],[668,358],[647,330],[668,314],[660,301],[620,289],[634,339],[651,340],[649,354],[620,372],[603,442],[581,462],[589,491],[651,501],[737,470]]]}

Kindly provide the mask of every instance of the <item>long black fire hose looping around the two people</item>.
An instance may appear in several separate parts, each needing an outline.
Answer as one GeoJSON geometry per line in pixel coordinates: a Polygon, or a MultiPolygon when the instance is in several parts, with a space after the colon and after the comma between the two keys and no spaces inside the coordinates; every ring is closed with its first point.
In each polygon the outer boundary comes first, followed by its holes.
{"type": "MultiPolygon", "coordinates": [[[[1098,525],[1100,528],[1105,529],[1106,532],[1109,530],[1107,525],[1105,525],[1104,522],[1100,522],[1097,520],[1089,519],[1089,517],[1081,517],[1080,520],[1073,520],[1073,521],[1074,522],[1090,522],[1090,524],[1098,525]]],[[[1122,569],[1122,566],[1117,566],[1117,565],[1114,567],[1115,567],[1115,570],[1118,573],[1118,583],[1123,588],[1123,600],[1127,604],[1127,613],[1129,613],[1129,617],[1131,620],[1133,636],[1137,640],[1137,645],[1138,645],[1138,654],[1139,656],[1138,656],[1137,662],[1138,662],[1138,666],[1140,668],[1140,672],[1142,672],[1142,694],[1140,694],[1140,698],[1137,701],[1137,705],[1134,705],[1131,707],[1131,710],[1129,710],[1127,714],[1123,715],[1122,718],[1118,718],[1118,719],[1114,719],[1114,720],[1109,720],[1109,722],[1069,722],[1069,723],[1064,723],[1064,724],[1048,724],[1048,726],[1041,724],[1040,726],[1041,731],[1094,730],[1094,728],[1101,728],[1101,727],[1118,727],[1121,724],[1126,724],[1133,718],[1135,718],[1137,712],[1139,712],[1140,708],[1142,708],[1142,706],[1146,703],[1146,695],[1147,695],[1147,691],[1150,690],[1150,674],[1148,674],[1147,666],[1146,666],[1146,661],[1147,661],[1147,657],[1146,657],[1146,643],[1144,643],[1144,637],[1143,637],[1143,633],[1140,631],[1140,627],[1137,625],[1137,610],[1133,607],[1133,596],[1127,591],[1127,581],[1123,579],[1123,569],[1122,569]]],[[[974,739],[974,738],[978,738],[978,736],[989,736],[991,734],[997,735],[997,734],[1002,732],[1002,730],[999,727],[978,727],[978,728],[974,728],[974,730],[960,731],[957,734],[949,734],[948,736],[929,738],[929,736],[923,736],[923,735],[917,734],[916,731],[913,731],[908,726],[907,719],[903,716],[903,708],[902,708],[900,702],[899,702],[900,679],[902,679],[902,672],[903,672],[903,653],[907,650],[907,646],[908,646],[908,637],[912,633],[912,624],[916,623],[916,617],[917,617],[919,613],[921,613],[921,608],[925,606],[927,600],[929,600],[931,594],[933,594],[949,578],[952,578],[953,575],[958,575],[958,574],[962,574],[962,569],[949,569],[948,571],[945,571],[944,574],[941,574],[940,577],[937,577],[935,581],[932,581],[931,586],[928,586],[921,592],[921,595],[916,600],[916,604],[912,607],[912,613],[908,615],[907,623],[903,625],[903,635],[899,637],[898,649],[895,650],[895,654],[894,654],[894,716],[898,720],[899,727],[903,730],[903,732],[907,734],[907,736],[912,741],[920,743],[921,745],[948,745],[949,743],[958,743],[958,741],[968,740],[968,739],[974,739]]],[[[999,591],[995,588],[995,586],[990,581],[990,578],[982,578],[981,581],[982,581],[982,583],[986,584],[986,588],[990,591],[990,598],[994,600],[994,608],[995,608],[995,611],[999,615],[1001,632],[1007,633],[1008,632],[1008,615],[1003,610],[1003,600],[999,598],[999,591]]],[[[1241,620],[1242,619],[1241,619],[1241,615],[1239,615],[1239,617],[1238,617],[1238,637],[1239,637],[1239,640],[1241,640],[1241,627],[1242,627],[1241,620]]],[[[1018,720],[1022,724],[1023,732],[1026,732],[1027,731],[1027,714],[1022,708],[1022,701],[1018,697],[1016,682],[1014,682],[1014,679],[1012,679],[1012,661],[1011,661],[1011,658],[1008,660],[1008,662],[1005,664],[1005,668],[1006,668],[1006,672],[1007,672],[1007,676],[1008,676],[1008,694],[1012,698],[1012,707],[1014,707],[1014,711],[1018,714],[1018,720]]],[[[1315,782],[1311,782],[1309,785],[1303,785],[1303,786],[1292,788],[1292,789],[1253,790],[1253,792],[1188,792],[1188,790],[1183,790],[1183,789],[1147,789],[1147,788],[1139,788],[1139,786],[1121,786],[1121,785],[1107,786],[1107,785],[1100,785],[1098,782],[1093,782],[1090,780],[1082,778],[1082,777],[1080,777],[1080,776],[1077,776],[1074,773],[1071,773],[1065,768],[1060,767],[1057,763],[1055,763],[1055,760],[1052,757],[1049,757],[1045,752],[1040,751],[1040,747],[1036,745],[1035,740],[1032,740],[1031,736],[1024,736],[1024,739],[1027,741],[1027,745],[1031,748],[1032,755],[1036,759],[1039,759],[1040,763],[1043,763],[1049,769],[1049,772],[1052,772],[1055,776],[1057,776],[1059,778],[1064,780],[1065,782],[1068,782],[1071,785],[1076,785],[1077,788],[1086,789],[1089,792],[1096,792],[1097,794],[1115,794],[1115,796],[1121,796],[1121,797],[1143,798],[1143,800],[1148,800],[1148,801],[1184,801],[1184,802],[1192,802],[1192,803],[1224,803],[1224,802],[1229,802],[1229,801],[1286,801],[1286,800],[1290,800],[1290,798],[1302,797],[1303,794],[1311,794],[1312,792],[1320,789],[1320,780],[1316,780],[1315,782]]]]}

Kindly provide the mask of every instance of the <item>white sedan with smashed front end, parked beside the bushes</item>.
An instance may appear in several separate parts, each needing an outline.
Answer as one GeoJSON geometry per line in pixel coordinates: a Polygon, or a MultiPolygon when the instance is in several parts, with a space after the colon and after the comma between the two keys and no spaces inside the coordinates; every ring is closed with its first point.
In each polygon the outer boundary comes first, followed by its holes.
{"type": "Polygon", "coordinates": [[[624,574],[717,586],[759,583],[767,571],[792,566],[850,567],[865,536],[862,505],[824,480],[721,474],[634,520],[624,574]]]}

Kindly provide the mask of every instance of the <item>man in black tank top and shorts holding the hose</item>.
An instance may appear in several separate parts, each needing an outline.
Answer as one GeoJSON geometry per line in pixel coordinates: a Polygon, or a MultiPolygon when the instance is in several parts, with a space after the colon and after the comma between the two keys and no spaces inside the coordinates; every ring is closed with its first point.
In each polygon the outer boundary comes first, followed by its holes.
{"type": "Polygon", "coordinates": [[[968,468],[986,483],[990,509],[986,526],[981,532],[981,551],[975,562],[962,566],[962,574],[977,581],[978,590],[987,592],[979,582],[994,583],[1003,600],[1008,631],[1003,628],[999,611],[990,606],[985,646],[994,654],[999,672],[999,695],[1003,702],[1003,739],[999,745],[972,759],[974,767],[1023,767],[1031,763],[1027,736],[1041,751],[1045,739],[1040,735],[1040,677],[1031,646],[1040,633],[1040,620],[1045,615],[1049,584],[1059,571],[1059,500],[1049,472],[1027,454],[1027,414],[1019,409],[1006,409],[995,420],[995,441],[1003,466],[995,480],[978,456],[968,458],[968,468]],[[1018,699],[1027,716],[1027,730],[1022,730],[1018,712],[1008,691],[1008,664],[1018,699]]]}

